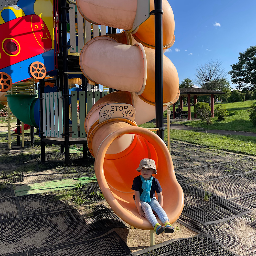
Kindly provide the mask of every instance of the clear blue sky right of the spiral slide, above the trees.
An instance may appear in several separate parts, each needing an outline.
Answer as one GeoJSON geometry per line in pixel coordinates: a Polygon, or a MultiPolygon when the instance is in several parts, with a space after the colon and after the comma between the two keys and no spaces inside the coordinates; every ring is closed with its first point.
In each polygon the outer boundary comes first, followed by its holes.
{"type": "Polygon", "coordinates": [[[211,59],[221,59],[222,67],[230,71],[239,52],[256,45],[256,1],[168,2],[175,18],[175,43],[165,55],[177,68],[180,81],[185,77],[194,80],[197,64],[211,59]]]}

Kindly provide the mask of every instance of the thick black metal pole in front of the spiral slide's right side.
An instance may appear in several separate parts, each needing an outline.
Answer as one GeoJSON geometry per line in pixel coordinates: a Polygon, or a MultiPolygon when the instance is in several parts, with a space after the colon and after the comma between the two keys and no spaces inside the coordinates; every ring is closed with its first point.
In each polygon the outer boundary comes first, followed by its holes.
{"type": "Polygon", "coordinates": [[[163,10],[162,0],[155,0],[155,86],[156,86],[156,134],[164,140],[163,109],[163,10]],[[161,129],[162,128],[162,129],[161,129]]]}

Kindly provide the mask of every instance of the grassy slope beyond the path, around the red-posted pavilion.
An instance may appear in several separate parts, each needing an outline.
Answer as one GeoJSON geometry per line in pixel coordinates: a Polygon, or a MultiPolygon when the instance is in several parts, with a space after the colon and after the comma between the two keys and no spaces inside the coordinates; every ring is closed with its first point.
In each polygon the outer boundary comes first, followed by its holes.
{"type": "MultiPolygon", "coordinates": [[[[220,103],[214,104],[214,109],[219,105],[220,103]]],[[[229,131],[244,131],[244,132],[255,132],[256,133],[256,127],[250,122],[249,115],[250,115],[250,106],[252,104],[256,104],[255,100],[248,100],[248,101],[241,101],[241,102],[232,102],[222,103],[226,109],[228,110],[228,117],[224,121],[218,122],[218,118],[212,119],[212,124],[207,124],[206,121],[202,122],[200,120],[198,121],[184,121],[182,122],[183,125],[189,125],[194,127],[201,127],[205,129],[216,129],[216,130],[229,130],[229,131]]],[[[188,107],[184,106],[183,110],[188,110],[188,107]]],[[[166,116],[166,112],[164,113],[164,116],[166,116]]],[[[194,118],[194,106],[191,106],[191,118],[194,118]]],[[[172,122],[172,119],[171,119],[172,122]]],[[[181,123],[181,122],[180,122],[181,123]]]]}

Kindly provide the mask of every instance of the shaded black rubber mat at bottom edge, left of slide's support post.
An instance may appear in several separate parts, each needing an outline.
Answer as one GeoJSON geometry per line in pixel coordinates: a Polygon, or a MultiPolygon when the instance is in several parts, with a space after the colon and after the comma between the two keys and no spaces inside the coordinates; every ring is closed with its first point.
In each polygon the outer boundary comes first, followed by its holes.
{"type": "Polygon", "coordinates": [[[125,242],[112,232],[98,239],[73,243],[50,249],[30,251],[29,256],[128,256],[131,251],[125,242]]]}

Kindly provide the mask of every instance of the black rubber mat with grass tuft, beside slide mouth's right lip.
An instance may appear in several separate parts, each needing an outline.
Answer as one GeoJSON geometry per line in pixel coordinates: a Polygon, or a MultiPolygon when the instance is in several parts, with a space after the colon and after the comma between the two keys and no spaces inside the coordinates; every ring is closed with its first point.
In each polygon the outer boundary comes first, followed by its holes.
{"type": "Polygon", "coordinates": [[[223,222],[252,212],[223,197],[208,194],[183,183],[180,185],[185,198],[183,214],[204,225],[223,222]]]}

